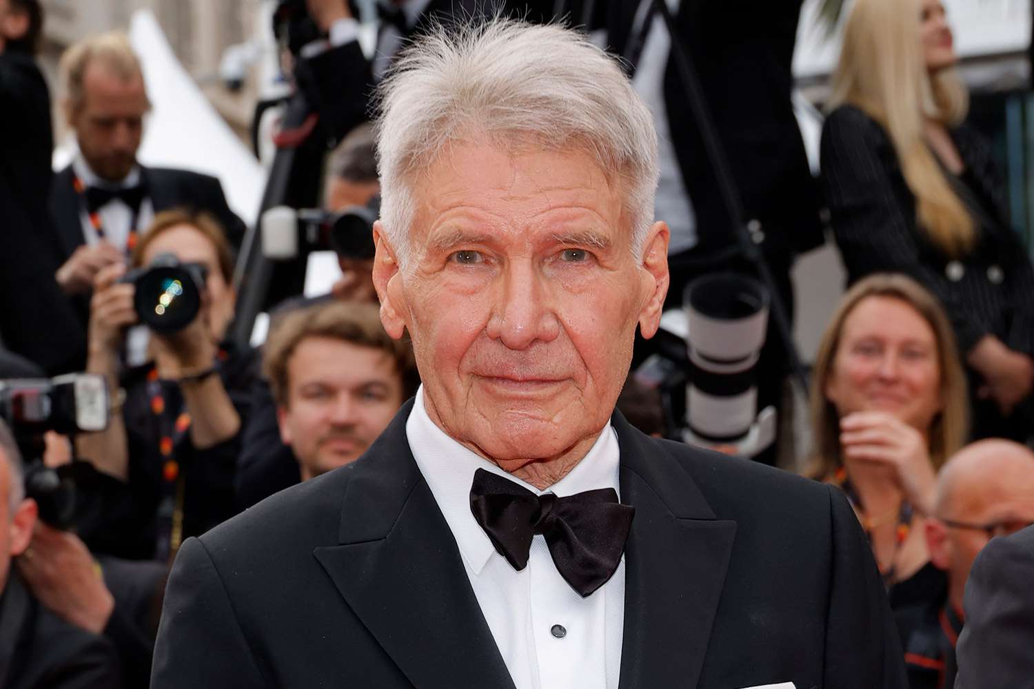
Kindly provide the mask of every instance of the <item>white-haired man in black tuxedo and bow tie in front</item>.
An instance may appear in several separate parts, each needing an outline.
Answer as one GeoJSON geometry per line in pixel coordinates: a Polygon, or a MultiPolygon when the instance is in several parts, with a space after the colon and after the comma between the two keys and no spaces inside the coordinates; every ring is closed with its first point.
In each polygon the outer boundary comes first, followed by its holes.
{"type": "Polygon", "coordinates": [[[614,413],[668,285],[618,65],[494,21],[383,96],[373,278],[423,386],[358,461],[184,543],[153,686],[903,687],[843,496],[614,413]]]}

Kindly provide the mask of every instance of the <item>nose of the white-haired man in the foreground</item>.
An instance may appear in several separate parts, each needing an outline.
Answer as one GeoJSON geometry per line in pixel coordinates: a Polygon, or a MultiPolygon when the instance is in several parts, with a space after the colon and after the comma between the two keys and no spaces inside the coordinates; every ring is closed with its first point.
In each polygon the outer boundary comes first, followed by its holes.
{"type": "Polygon", "coordinates": [[[526,349],[537,340],[551,342],[560,326],[549,304],[544,276],[531,260],[511,261],[496,287],[487,333],[510,349],[526,349]]]}

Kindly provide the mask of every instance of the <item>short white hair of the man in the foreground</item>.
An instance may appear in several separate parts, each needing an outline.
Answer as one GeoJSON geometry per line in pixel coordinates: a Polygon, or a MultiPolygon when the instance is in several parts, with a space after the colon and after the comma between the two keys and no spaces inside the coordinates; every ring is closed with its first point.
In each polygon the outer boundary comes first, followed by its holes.
{"type": "Polygon", "coordinates": [[[582,34],[500,18],[437,26],[401,54],[378,99],[381,220],[402,265],[416,178],[448,144],[472,138],[588,154],[622,181],[641,256],[660,176],[653,119],[617,61],[582,34]]]}

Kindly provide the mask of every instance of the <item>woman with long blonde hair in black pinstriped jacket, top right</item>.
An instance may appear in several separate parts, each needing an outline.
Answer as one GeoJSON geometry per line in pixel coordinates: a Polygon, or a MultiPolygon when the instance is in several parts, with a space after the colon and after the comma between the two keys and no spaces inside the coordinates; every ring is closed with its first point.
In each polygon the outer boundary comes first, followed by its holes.
{"type": "Polygon", "coordinates": [[[900,272],[950,316],[974,435],[1026,439],[1034,271],[1009,227],[939,0],[857,0],[822,132],[832,225],[851,282],[900,272]]]}

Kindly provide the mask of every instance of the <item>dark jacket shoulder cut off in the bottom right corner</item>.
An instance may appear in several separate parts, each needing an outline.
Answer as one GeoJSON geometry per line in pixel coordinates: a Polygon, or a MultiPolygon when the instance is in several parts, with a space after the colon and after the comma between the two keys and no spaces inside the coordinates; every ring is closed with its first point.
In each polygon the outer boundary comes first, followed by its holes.
{"type": "Polygon", "coordinates": [[[966,583],[955,689],[1034,689],[1034,527],[992,538],[966,583]]]}

